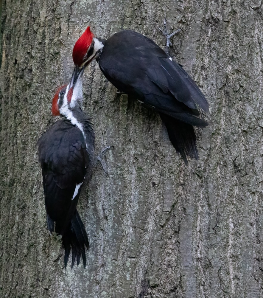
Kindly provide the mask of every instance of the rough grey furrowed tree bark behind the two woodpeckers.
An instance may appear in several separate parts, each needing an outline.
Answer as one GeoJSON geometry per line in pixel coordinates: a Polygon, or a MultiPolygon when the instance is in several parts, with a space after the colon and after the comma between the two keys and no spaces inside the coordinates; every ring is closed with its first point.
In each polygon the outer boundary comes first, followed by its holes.
{"type": "Polygon", "coordinates": [[[261,1],[4,0],[1,20],[0,296],[263,297],[261,1]],[[174,57],[211,106],[200,159],[186,166],[159,116],[117,94],[93,62],[85,112],[97,152],[115,150],[79,201],[88,266],[65,270],[35,148],[55,121],[52,94],[88,24],[164,45],[164,17],[183,29],[174,57]]]}

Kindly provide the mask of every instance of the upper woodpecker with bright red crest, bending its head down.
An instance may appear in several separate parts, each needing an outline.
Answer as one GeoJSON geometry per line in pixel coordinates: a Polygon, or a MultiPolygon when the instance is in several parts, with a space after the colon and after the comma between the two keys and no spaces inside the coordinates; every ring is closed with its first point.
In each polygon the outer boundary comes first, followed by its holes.
{"type": "MultiPolygon", "coordinates": [[[[168,48],[171,35],[166,23],[164,35],[168,48]]],[[[73,80],[95,58],[116,88],[159,112],[172,145],[186,163],[186,155],[198,159],[193,125],[208,125],[196,117],[200,115],[198,106],[209,111],[208,103],[185,70],[150,38],[122,30],[105,40],[95,38],[88,27],[76,42],[72,57],[73,80]]]]}

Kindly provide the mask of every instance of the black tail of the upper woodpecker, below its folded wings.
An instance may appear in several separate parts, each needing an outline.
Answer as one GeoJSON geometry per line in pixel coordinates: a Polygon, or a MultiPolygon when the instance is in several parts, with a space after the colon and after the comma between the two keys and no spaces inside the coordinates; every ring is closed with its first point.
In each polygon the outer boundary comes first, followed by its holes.
{"type": "Polygon", "coordinates": [[[165,114],[161,114],[169,139],[172,142],[176,152],[182,157],[184,162],[188,164],[186,156],[198,159],[198,151],[196,148],[196,136],[192,125],[178,121],[165,114]]]}

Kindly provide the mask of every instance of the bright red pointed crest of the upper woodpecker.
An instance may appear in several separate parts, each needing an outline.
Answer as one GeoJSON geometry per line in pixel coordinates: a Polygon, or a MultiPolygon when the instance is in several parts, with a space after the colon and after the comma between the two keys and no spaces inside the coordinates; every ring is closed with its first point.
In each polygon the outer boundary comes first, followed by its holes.
{"type": "Polygon", "coordinates": [[[91,45],[93,36],[94,34],[91,32],[90,27],[88,26],[85,32],[75,43],[72,52],[72,58],[75,65],[81,66],[83,63],[83,58],[87,53],[88,47],[91,45]]]}

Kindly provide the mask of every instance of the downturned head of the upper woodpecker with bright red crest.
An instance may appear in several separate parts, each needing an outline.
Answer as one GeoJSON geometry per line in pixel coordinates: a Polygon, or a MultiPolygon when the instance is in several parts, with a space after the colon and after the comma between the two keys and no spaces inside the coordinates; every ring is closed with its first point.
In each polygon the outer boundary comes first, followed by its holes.
{"type": "Polygon", "coordinates": [[[74,71],[70,80],[71,86],[74,84],[76,78],[82,69],[91,63],[91,61],[99,55],[103,48],[103,44],[99,41],[94,34],[91,32],[90,27],[83,32],[80,38],[76,41],[72,58],[75,64],[74,71]]]}

